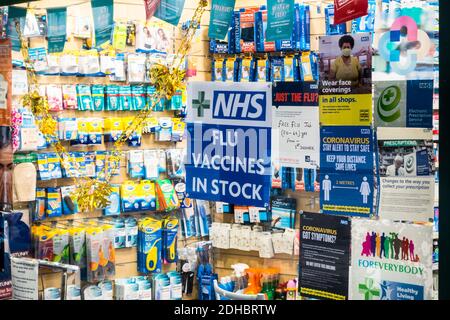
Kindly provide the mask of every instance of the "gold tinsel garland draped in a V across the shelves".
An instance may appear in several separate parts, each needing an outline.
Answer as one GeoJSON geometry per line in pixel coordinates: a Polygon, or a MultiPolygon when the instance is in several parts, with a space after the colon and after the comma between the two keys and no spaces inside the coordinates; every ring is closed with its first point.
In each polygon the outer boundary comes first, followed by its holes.
{"type": "MultiPolygon", "coordinates": [[[[152,113],[154,107],[161,99],[171,99],[178,91],[185,88],[184,78],[185,71],[181,66],[190,50],[192,40],[196,30],[200,25],[203,13],[208,5],[207,0],[200,0],[199,4],[190,20],[188,28],[185,30],[180,46],[176,53],[172,66],[161,63],[154,64],[150,69],[150,82],[155,86],[155,94],[152,105],[146,105],[138,115],[133,119],[131,124],[123,131],[119,139],[114,143],[114,149],[106,159],[104,173],[95,179],[92,178],[73,178],[75,180],[76,189],[71,194],[71,199],[77,203],[81,212],[92,211],[97,208],[104,208],[109,203],[109,195],[111,194],[111,178],[113,172],[118,170],[121,158],[121,148],[129,139],[129,137],[142,127],[143,122],[152,113]],[[110,166],[111,165],[111,166],[110,166]]],[[[33,65],[28,56],[28,45],[22,36],[20,24],[16,22],[16,29],[21,41],[21,52],[24,57],[25,66],[28,74],[28,82],[30,92],[23,96],[22,103],[24,107],[28,107],[35,116],[39,130],[45,139],[51,144],[60,159],[64,169],[71,172],[72,177],[80,177],[80,167],[76,162],[75,168],[70,166],[70,155],[61,144],[57,134],[57,121],[49,113],[49,106],[46,97],[39,94],[37,90],[37,78],[33,65]]]]}

